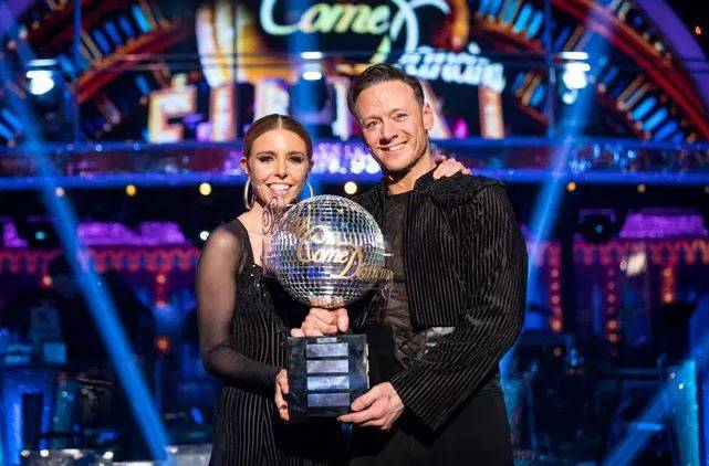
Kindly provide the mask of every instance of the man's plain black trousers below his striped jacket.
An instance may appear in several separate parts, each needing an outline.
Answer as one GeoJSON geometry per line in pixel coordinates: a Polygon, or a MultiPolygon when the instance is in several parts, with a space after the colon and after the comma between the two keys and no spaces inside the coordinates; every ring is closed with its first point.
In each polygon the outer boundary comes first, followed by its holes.
{"type": "Polygon", "coordinates": [[[482,390],[439,432],[411,414],[390,432],[355,428],[351,466],[512,465],[510,426],[500,390],[482,390]]]}

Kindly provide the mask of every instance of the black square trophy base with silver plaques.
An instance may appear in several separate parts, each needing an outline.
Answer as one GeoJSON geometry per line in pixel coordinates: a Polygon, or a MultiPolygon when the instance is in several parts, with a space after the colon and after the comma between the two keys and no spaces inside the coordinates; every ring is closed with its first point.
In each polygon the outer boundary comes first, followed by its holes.
{"type": "Polygon", "coordinates": [[[289,338],[289,414],[336,417],[369,389],[367,337],[289,338]]]}

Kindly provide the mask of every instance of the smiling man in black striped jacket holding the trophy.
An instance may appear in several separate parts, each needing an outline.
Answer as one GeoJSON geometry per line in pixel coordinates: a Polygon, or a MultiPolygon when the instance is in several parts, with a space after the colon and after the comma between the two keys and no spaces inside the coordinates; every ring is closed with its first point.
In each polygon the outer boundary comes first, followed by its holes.
{"type": "MultiPolygon", "coordinates": [[[[526,250],[505,191],[481,177],[434,182],[432,112],[400,70],[371,66],[348,104],[384,172],[356,201],[389,235],[395,258],[383,319],[353,316],[386,381],[340,417],[373,427],[355,430],[352,463],[512,464],[498,366],[523,321],[526,250]]],[[[313,309],[301,331],[346,321],[313,309]]]]}

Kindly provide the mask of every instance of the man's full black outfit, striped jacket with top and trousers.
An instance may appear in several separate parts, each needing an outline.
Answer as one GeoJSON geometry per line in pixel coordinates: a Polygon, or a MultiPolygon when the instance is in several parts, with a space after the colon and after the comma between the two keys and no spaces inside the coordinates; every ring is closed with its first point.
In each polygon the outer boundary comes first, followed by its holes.
{"type": "MultiPolygon", "coordinates": [[[[354,328],[393,328],[399,369],[385,380],[405,412],[392,433],[356,430],[353,463],[511,464],[498,366],[523,322],[526,247],[503,187],[466,176],[434,182],[427,173],[408,193],[398,230],[384,183],[355,200],[385,231],[400,231],[406,296],[397,299],[406,300],[410,332],[404,328],[407,338],[397,341],[400,318],[354,318],[354,328]],[[450,331],[429,345],[434,328],[450,331]],[[407,347],[416,352],[411,361],[402,359],[407,347]]],[[[372,354],[383,345],[371,339],[372,354]]]]}

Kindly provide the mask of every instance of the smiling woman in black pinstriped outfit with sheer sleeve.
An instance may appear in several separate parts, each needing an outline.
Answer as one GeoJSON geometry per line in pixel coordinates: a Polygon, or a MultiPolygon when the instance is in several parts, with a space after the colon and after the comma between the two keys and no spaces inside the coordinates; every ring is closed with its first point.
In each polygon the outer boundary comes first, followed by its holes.
{"type": "MultiPolygon", "coordinates": [[[[286,335],[300,327],[307,309],[267,279],[260,266],[264,206],[273,199],[281,205],[295,201],[312,152],[312,141],[295,119],[269,115],[254,121],[243,138],[241,160],[249,177],[247,211],[210,234],[199,261],[202,361],[223,381],[210,464],[344,463],[344,439],[334,420],[286,422],[286,335]]],[[[450,161],[437,174],[462,168],[450,161]]]]}

